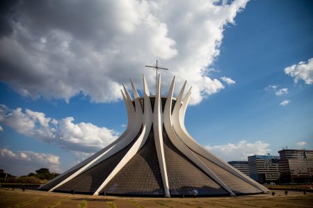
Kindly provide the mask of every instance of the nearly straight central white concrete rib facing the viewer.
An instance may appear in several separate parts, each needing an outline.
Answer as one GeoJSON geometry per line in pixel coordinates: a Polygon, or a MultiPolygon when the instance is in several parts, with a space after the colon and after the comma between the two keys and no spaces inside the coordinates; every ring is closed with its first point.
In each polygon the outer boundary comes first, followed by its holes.
{"type": "Polygon", "coordinates": [[[166,161],[163,148],[162,135],[162,116],[161,116],[161,75],[159,74],[157,80],[157,87],[155,91],[154,110],[153,110],[153,131],[154,143],[157,150],[157,157],[159,161],[161,176],[163,180],[163,189],[167,198],[170,197],[170,188],[168,186],[168,173],[166,171],[166,161]]]}

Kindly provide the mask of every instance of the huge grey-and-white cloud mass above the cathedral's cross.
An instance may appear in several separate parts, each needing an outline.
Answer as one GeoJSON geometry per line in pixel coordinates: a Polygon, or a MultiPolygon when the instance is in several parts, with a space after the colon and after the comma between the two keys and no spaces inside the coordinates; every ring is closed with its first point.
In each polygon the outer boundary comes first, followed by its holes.
{"type": "Polygon", "coordinates": [[[178,86],[186,79],[190,103],[200,103],[224,88],[208,67],[246,2],[12,1],[1,16],[0,80],[31,98],[83,94],[112,102],[129,77],[142,89],[145,73],[153,89],[154,73],[144,65],[159,59],[170,68],[166,87],[174,75],[178,86]]]}

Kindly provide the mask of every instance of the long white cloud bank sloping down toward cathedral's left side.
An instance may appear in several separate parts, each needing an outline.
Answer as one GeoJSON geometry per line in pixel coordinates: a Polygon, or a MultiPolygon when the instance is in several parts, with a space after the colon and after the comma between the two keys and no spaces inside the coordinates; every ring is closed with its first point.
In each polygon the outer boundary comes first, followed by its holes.
{"type": "Polygon", "coordinates": [[[56,120],[42,112],[21,108],[12,110],[0,105],[0,123],[8,125],[22,135],[56,144],[67,150],[92,153],[117,139],[118,132],[92,123],[74,123],[73,117],[56,120]]]}

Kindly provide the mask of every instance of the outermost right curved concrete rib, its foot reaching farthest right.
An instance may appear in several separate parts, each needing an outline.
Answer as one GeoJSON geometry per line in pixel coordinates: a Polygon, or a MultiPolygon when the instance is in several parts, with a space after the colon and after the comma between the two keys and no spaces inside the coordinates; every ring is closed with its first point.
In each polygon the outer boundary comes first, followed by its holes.
{"type": "MultiPolygon", "coordinates": [[[[181,93],[179,95],[182,95],[181,93]]],[[[186,94],[184,101],[182,103],[182,106],[179,107],[175,105],[172,118],[175,122],[173,122],[173,128],[175,129],[175,132],[179,136],[179,139],[181,139],[186,146],[191,148],[191,150],[195,151],[195,153],[198,153],[199,155],[202,155],[203,157],[209,159],[211,162],[214,162],[214,164],[217,164],[218,166],[224,168],[228,172],[236,175],[236,177],[239,177],[241,180],[247,182],[248,184],[251,184],[253,187],[259,189],[260,191],[268,192],[269,190],[263,187],[262,185],[255,182],[255,180],[252,180],[247,175],[241,173],[240,171],[236,170],[233,166],[230,164],[227,164],[226,162],[223,162],[223,159],[218,158],[216,155],[209,153],[205,148],[200,146],[191,135],[188,134],[185,124],[184,124],[184,116],[186,113],[186,107],[188,105],[188,101],[191,95],[191,89],[189,89],[188,93],[186,94]]],[[[180,96],[177,97],[178,100],[182,100],[180,96]]]]}

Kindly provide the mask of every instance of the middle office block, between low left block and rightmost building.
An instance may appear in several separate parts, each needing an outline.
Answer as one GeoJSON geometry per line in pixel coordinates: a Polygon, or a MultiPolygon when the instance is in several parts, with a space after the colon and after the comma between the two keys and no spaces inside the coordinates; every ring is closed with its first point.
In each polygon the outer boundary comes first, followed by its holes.
{"type": "Polygon", "coordinates": [[[259,183],[278,182],[280,156],[252,155],[248,157],[250,177],[259,183]]]}

